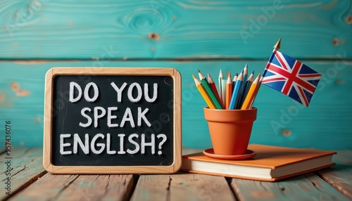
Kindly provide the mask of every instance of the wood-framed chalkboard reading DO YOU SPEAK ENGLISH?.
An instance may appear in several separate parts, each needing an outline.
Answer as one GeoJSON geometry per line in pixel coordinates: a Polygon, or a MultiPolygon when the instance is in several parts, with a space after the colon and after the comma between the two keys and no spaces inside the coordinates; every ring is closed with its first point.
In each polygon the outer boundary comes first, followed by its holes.
{"type": "Polygon", "coordinates": [[[175,173],[182,155],[180,85],[172,68],[52,68],[45,82],[44,168],[175,173]]]}

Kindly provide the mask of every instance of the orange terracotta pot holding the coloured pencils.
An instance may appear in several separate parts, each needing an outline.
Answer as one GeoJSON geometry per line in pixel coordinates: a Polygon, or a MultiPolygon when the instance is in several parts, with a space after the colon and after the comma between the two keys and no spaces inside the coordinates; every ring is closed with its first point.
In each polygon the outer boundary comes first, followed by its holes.
{"type": "Polygon", "coordinates": [[[216,155],[244,155],[247,150],[257,108],[215,110],[204,108],[211,143],[216,155]]]}

